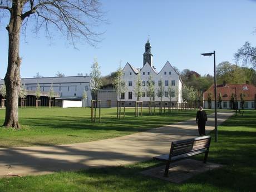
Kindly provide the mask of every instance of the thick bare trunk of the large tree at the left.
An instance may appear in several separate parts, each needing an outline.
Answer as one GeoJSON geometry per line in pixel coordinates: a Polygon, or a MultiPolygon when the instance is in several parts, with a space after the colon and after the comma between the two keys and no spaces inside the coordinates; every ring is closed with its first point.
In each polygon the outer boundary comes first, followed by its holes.
{"type": "Polygon", "coordinates": [[[19,128],[18,123],[18,91],[21,83],[19,58],[19,34],[22,23],[21,1],[14,0],[11,18],[6,27],[9,35],[8,68],[4,82],[6,83],[6,118],[3,126],[19,128]]]}

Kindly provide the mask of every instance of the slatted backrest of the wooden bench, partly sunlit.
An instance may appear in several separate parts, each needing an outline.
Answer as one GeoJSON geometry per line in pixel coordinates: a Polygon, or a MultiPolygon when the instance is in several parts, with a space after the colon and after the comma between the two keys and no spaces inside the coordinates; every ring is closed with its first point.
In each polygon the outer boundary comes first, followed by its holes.
{"type": "Polygon", "coordinates": [[[186,154],[192,151],[198,151],[202,149],[209,149],[210,136],[196,137],[192,139],[179,140],[171,142],[170,156],[176,156],[186,154]]]}

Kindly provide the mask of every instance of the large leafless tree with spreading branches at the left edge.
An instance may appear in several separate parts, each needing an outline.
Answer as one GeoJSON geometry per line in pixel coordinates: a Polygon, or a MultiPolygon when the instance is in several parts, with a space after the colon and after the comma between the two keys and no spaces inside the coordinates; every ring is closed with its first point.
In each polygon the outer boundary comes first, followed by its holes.
{"type": "MultiPolygon", "coordinates": [[[[0,1],[3,11],[1,18],[8,14],[7,31],[8,67],[4,82],[6,83],[6,117],[4,126],[19,127],[18,124],[18,92],[21,84],[19,57],[19,37],[23,27],[35,26],[35,31],[57,29],[75,45],[77,37],[84,37],[85,42],[93,45],[99,41],[99,33],[93,32],[93,24],[102,21],[100,3],[97,0],[5,0],[0,1]],[[35,25],[30,25],[31,21],[35,25]],[[52,27],[51,27],[52,26],[52,27]]],[[[55,32],[54,31],[54,32],[55,32]]]]}

